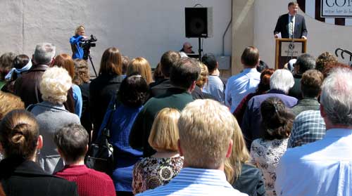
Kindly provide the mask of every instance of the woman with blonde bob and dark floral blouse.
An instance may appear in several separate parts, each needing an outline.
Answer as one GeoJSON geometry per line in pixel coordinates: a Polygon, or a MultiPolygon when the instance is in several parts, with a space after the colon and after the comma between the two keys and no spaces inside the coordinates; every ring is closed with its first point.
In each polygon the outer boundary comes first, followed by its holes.
{"type": "Polygon", "coordinates": [[[134,166],[133,194],[165,185],[179,174],[183,165],[183,157],[177,152],[179,118],[180,112],[173,108],[166,107],[158,112],[148,139],[156,153],[134,166]]]}

